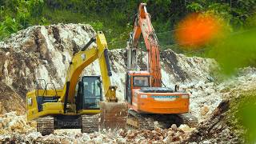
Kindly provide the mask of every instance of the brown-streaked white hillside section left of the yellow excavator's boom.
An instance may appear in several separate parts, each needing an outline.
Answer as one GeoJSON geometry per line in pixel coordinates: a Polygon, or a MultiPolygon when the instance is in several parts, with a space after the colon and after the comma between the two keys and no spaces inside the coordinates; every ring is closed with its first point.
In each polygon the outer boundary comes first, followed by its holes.
{"type": "Polygon", "coordinates": [[[38,78],[61,88],[70,55],[93,34],[86,25],[32,26],[0,42],[1,111],[24,113],[26,92],[38,78]]]}

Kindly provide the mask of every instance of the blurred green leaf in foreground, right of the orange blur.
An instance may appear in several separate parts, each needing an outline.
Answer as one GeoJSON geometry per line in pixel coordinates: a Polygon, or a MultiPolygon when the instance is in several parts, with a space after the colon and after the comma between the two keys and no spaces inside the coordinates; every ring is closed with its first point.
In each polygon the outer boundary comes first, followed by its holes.
{"type": "Polygon", "coordinates": [[[256,66],[256,30],[246,30],[221,39],[208,52],[222,67],[225,74],[233,74],[238,68],[256,66]]]}

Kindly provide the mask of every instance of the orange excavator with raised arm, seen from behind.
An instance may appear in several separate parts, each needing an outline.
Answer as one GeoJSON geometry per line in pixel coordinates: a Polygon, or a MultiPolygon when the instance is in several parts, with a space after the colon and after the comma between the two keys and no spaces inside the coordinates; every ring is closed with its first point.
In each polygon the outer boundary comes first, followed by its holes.
{"type": "Polygon", "coordinates": [[[138,7],[134,30],[127,42],[126,102],[129,117],[127,125],[135,128],[154,129],[154,121],[169,127],[186,123],[195,126],[197,118],[189,113],[190,93],[162,87],[162,74],[158,38],[151,24],[146,3],[138,7]],[[142,37],[146,44],[147,68],[139,70],[137,63],[138,41],[142,37]]]}

